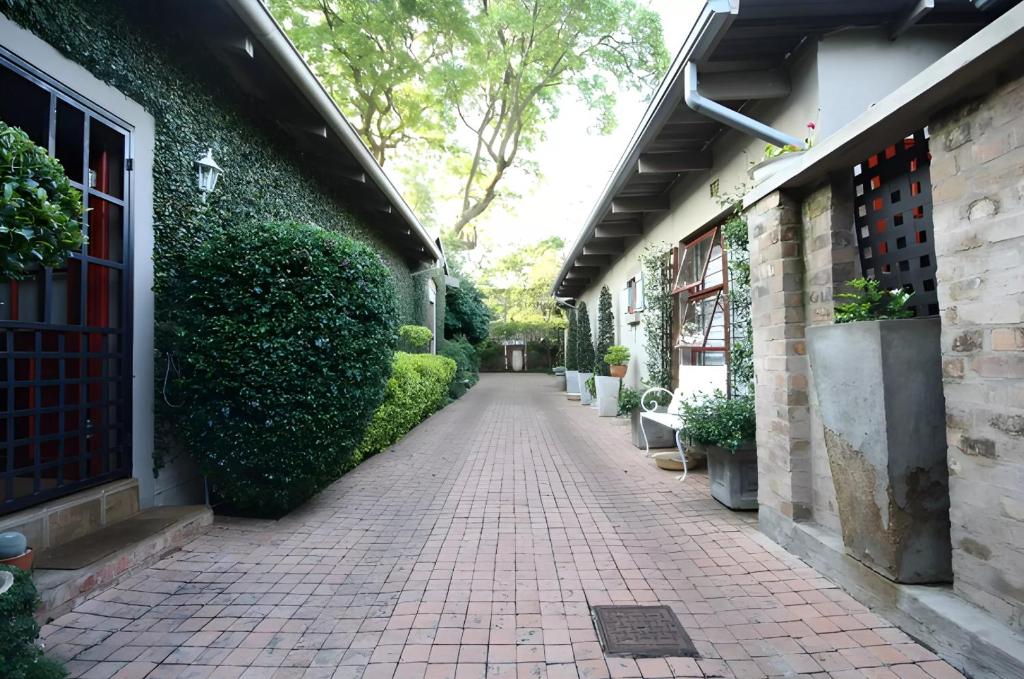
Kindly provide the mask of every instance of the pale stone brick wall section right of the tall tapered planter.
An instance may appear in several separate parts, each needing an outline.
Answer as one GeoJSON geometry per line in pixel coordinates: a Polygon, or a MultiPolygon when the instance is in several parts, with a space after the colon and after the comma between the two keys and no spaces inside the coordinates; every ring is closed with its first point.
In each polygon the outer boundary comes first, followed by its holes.
{"type": "Polygon", "coordinates": [[[1024,628],[1024,78],[931,125],[956,591],[1024,628]]]}

